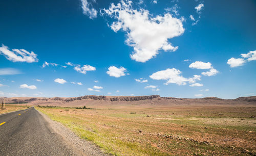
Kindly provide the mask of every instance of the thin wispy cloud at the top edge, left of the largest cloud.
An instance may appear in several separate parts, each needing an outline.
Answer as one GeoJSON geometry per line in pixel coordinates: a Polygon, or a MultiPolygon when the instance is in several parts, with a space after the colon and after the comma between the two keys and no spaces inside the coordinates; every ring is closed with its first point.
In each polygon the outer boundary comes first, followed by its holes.
{"type": "MultiPolygon", "coordinates": [[[[90,0],[89,0],[90,1],[90,0]]],[[[92,0],[93,3],[96,3],[96,0],[92,0]]],[[[97,17],[97,10],[93,8],[92,3],[88,2],[88,0],[81,0],[83,14],[89,16],[89,18],[93,19],[97,17]]]]}

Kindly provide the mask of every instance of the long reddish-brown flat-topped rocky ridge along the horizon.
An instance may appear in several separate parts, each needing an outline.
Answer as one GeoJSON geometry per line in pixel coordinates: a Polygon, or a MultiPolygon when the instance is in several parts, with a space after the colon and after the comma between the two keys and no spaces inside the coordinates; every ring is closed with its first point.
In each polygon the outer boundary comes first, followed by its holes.
{"type": "MultiPolygon", "coordinates": [[[[0,98],[1,102],[4,97],[0,98]]],[[[236,99],[221,99],[217,97],[204,98],[175,98],[150,96],[96,96],[86,95],[79,97],[9,97],[5,98],[6,103],[28,103],[30,105],[41,106],[61,106],[61,107],[102,107],[102,106],[213,106],[213,105],[246,105],[256,106],[256,96],[239,97],[236,99]]]]}

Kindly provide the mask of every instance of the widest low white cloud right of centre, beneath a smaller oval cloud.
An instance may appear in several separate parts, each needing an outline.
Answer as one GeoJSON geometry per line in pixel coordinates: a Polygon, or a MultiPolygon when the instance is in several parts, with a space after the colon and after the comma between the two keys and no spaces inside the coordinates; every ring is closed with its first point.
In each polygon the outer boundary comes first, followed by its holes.
{"type": "Polygon", "coordinates": [[[186,85],[186,82],[192,84],[195,83],[197,80],[200,81],[200,75],[194,75],[194,77],[185,78],[181,75],[181,71],[179,69],[169,69],[161,70],[153,73],[150,75],[150,78],[153,80],[167,80],[165,85],[170,83],[177,84],[177,85],[186,85]]]}

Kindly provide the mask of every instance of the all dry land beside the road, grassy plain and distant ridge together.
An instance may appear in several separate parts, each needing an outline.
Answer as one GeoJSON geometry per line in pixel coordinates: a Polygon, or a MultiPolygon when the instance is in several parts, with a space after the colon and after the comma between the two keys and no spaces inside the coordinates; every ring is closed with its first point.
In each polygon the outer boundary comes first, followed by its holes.
{"type": "MultiPolygon", "coordinates": [[[[256,96],[6,98],[25,103],[113,155],[255,155],[256,96]]],[[[27,106],[26,106],[27,105],[27,106]]],[[[19,107],[22,108],[22,107],[19,107]]],[[[1,112],[2,113],[2,112],[1,112]]]]}

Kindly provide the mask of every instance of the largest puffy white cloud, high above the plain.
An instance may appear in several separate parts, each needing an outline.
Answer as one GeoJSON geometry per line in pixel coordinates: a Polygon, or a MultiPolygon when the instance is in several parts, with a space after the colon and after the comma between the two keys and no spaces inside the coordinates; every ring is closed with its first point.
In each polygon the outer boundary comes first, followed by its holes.
{"type": "Polygon", "coordinates": [[[121,1],[117,5],[111,4],[109,9],[101,10],[101,14],[115,18],[111,24],[114,32],[123,30],[127,33],[126,43],[134,48],[131,58],[138,62],[146,62],[155,57],[160,49],[175,51],[168,39],[184,33],[182,21],[169,13],[152,17],[148,10],[136,10],[132,1],[121,1]]]}

